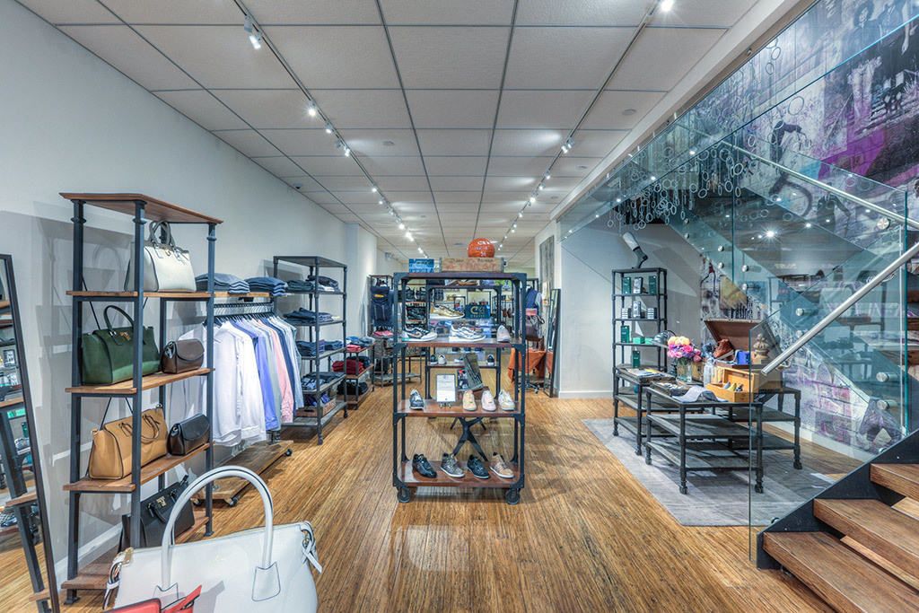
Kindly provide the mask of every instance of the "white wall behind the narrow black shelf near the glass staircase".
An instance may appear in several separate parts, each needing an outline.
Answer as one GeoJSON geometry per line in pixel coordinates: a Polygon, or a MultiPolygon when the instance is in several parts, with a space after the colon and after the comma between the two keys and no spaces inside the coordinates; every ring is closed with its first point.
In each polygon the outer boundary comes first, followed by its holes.
{"type": "MultiPolygon", "coordinates": [[[[648,255],[643,267],[667,268],[668,328],[676,334],[698,336],[699,255],[669,226],[653,224],[633,231],[648,255]]],[[[560,327],[560,396],[603,397],[612,393],[614,268],[635,265],[635,255],[618,229],[599,220],[573,233],[556,258],[562,267],[562,325],[560,327]]],[[[656,333],[654,326],[642,330],[656,333]]],[[[648,351],[648,350],[645,350],[648,351]]],[[[650,351],[649,351],[650,353],[650,351]]]]}

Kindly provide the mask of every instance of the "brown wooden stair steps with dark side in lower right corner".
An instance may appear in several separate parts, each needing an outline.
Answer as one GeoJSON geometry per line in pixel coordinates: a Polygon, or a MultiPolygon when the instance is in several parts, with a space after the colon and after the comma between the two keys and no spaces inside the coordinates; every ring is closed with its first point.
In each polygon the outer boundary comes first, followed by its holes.
{"type": "Polygon", "coordinates": [[[919,612],[919,433],[757,537],[757,566],[783,568],[836,610],[919,612]]]}

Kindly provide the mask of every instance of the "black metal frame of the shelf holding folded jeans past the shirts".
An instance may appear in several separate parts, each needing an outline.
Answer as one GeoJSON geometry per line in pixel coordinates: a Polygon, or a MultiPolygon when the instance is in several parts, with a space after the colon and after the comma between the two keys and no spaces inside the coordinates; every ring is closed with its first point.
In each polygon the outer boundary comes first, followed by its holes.
{"type": "MultiPolygon", "coordinates": [[[[292,324],[291,322],[288,322],[288,323],[291,325],[295,325],[296,327],[301,328],[302,330],[305,330],[308,335],[307,337],[308,342],[316,343],[316,344],[318,344],[320,341],[320,331],[323,327],[328,326],[328,325],[339,325],[340,324],[342,326],[342,337],[341,337],[342,347],[344,348],[347,345],[347,340],[346,340],[347,339],[347,265],[342,262],[336,262],[335,260],[331,260],[327,257],[323,257],[322,255],[275,255],[273,258],[274,266],[273,266],[272,277],[278,278],[278,272],[279,272],[278,268],[281,263],[294,264],[297,266],[306,267],[309,270],[309,274],[313,275],[314,280],[316,281],[315,283],[313,283],[312,291],[297,292],[297,295],[306,296],[308,298],[308,302],[307,302],[308,308],[312,312],[317,313],[316,320],[312,322],[312,324],[292,324]],[[323,268],[341,268],[342,281],[341,281],[340,291],[322,291],[321,289],[319,289],[318,281],[319,281],[320,271],[323,268]],[[326,297],[335,296],[335,297],[340,297],[342,299],[342,318],[340,321],[332,321],[332,322],[320,322],[319,321],[318,313],[319,313],[320,296],[326,296],[326,297]]],[[[278,298],[280,297],[276,297],[275,299],[273,299],[276,310],[278,308],[278,298]]],[[[304,389],[303,392],[309,395],[312,395],[312,398],[316,403],[315,407],[313,407],[315,408],[316,414],[315,416],[312,416],[312,415],[297,416],[295,415],[292,422],[290,422],[289,424],[284,424],[284,426],[305,426],[305,427],[315,428],[316,429],[316,442],[319,445],[323,444],[323,426],[325,426],[332,419],[332,416],[335,413],[337,413],[339,410],[342,410],[345,413],[345,418],[347,418],[347,411],[348,411],[347,385],[344,386],[344,394],[343,394],[344,406],[341,403],[335,403],[335,408],[333,410],[329,412],[324,412],[323,403],[320,402],[320,397],[323,395],[324,392],[328,391],[328,389],[330,389],[332,386],[323,386],[320,384],[319,374],[318,374],[320,371],[319,366],[323,358],[328,358],[329,360],[328,363],[331,364],[332,356],[336,355],[337,353],[344,354],[344,352],[339,352],[335,350],[334,352],[333,351],[323,352],[323,354],[320,356],[315,356],[312,358],[304,358],[301,360],[301,365],[306,363],[310,366],[310,369],[306,373],[305,376],[309,376],[310,373],[313,373],[314,388],[312,390],[304,389]]],[[[347,371],[347,354],[345,354],[344,362],[345,362],[345,370],[347,371]]],[[[342,374],[344,375],[346,374],[346,372],[343,372],[342,374]]]]}

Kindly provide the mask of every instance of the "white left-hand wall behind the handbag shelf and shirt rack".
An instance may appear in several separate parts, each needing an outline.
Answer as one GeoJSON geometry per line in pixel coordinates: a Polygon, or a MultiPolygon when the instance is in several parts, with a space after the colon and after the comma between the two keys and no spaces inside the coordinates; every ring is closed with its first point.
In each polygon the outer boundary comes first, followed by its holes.
{"type": "MultiPolygon", "coordinates": [[[[73,208],[58,192],[141,192],[219,217],[225,222],[217,230],[217,270],[240,277],[268,272],[272,255],[295,254],[343,260],[359,271],[356,277],[366,278],[377,266],[376,239],[357,226],[346,229],[12,0],[0,0],[0,23],[0,253],[14,257],[51,541],[61,561],[67,534],[62,484],[69,481],[71,401],[63,390],[71,378],[73,322],[65,291],[73,270],[73,208]],[[359,245],[357,253],[346,249],[348,238],[359,245]]],[[[128,261],[130,217],[87,208],[86,219],[87,283],[117,289],[128,261]]],[[[206,270],[205,231],[176,231],[179,244],[192,250],[196,271],[206,270]]],[[[154,313],[147,309],[147,323],[155,321],[154,313]]],[[[170,313],[170,335],[179,334],[191,314],[181,307],[170,313]]],[[[96,327],[91,316],[84,325],[88,331],[96,327]]],[[[97,401],[84,403],[84,468],[89,433],[103,408],[97,401]]],[[[110,528],[126,512],[124,502],[83,496],[84,551],[96,547],[97,555],[117,538],[118,528],[110,528]]]]}

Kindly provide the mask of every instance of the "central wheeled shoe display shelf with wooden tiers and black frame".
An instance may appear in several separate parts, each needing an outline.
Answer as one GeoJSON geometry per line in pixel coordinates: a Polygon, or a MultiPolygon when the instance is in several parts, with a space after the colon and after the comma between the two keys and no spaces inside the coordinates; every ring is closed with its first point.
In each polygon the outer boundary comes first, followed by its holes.
{"type": "MultiPolygon", "coordinates": [[[[400,295],[398,289],[406,287],[409,282],[414,280],[433,280],[433,279],[472,279],[476,282],[475,286],[458,286],[458,288],[452,289],[472,289],[472,288],[488,288],[493,289],[497,286],[484,285],[482,281],[505,281],[510,285],[510,292],[513,296],[514,301],[514,329],[522,329],[522,324],[524,321],[524,310],[523,310],[523,291],[525,284],[527,282],[527,276],[522,273],[495,273],[495,272],[469,272],[469,273],[458,273],[458,272],[435,272],[435,273],[397,273],[394,277],[395,288],[397,289],[397,297],[400,295]]],[[[444,287],[445,289],[450,286],[436,286],[437,289],[444,287]]],[[[430,289],[428,289],[428,298],[429,298],[430,289]]],[[[402,311],[404,305],[397,301],[397,309],[393,310],[393,332],[396,333],[396,338],[398,339],[394,344],[394,351],[392,356],[392,370],[397,372],[401,370],[402,372],[406,369],[406,353],[411,347],[421,347],[427,350],[438,349],[438,348],[453,348],[453,347],[482,347],[483,349],[494,349],[498,351],[498,355],[502,350],[516,350],[519,355],[526,355],[527,352],[527,343],[523,338],[512,336],[510,342],[499,343],[494,338],[494,335],[491,337],[484,338],[478,341],[471,341],[467,343],[450,341],[448,335],[437,335],[436,338],[433,338],[428,341],[404,341],[402,340],[402,330],[398,325],[399,319],[397,316],[397,311],[402,311]]],[[[456,320],[454,320],[456,321],[456,320]]],[[[392,484],[396,488],[397,498],[400,502],[407,503],[412,499],[414,491],[418,487],[488,487],[488,488],[504,488],[505,491],[505,501],[509,505],[516,505],[520,501],[520,490],[524,486],[524,479],[526,476],[525,465],[524,465],[524,456],[526,448],[526,385],[527,385],[527,373],[526,369],[523,368],[524,360],[517,360],[516,367],[516,383],[514,385],[514,391],[512,396],[515,402],[514,411],[504,411],[498,409],[496,411],[485,411],[482,409],[482,403],[476,401],[475,410],[466,410],[462,408],[461,403],[449,403],[447,405],[442,405],[431,399],[425,400],[425,408],[423,410],[413,410],[409,407],[409,395],[410,391],[407,389],[404,380],[400,385],[394,385],[392,388],[392,484]],[[411,418],[433,418],[433,417],[451,417],[456,420],[459,420],[459,423],[462,425],[463,431],[459,437],[456,447],[453,449],[453,454],[457,455],[459,450],[463,448],[466,443],[470,443],[472,448],[474,448],[475,453],[477,453],[482,462],[487,466],[488,465],[488,456],[482,450],[482,447],[479,445],[478,440],[471,432],[471,426],[476,424],[482,424],[482,420],[486,418],[505,418],[511,419],[514,421],[514,452],[513,457],[508,462],[511,470],[514,472],[514,476],[510,479],[505,479],[498,477],[497,475],[490,475],[488,479],[480,479],[475,477],[468,471],[465,462],[459,462],[459,466],[466,471],[465,476],[455,478],[450,477],[445,474],[440,469],[439,461],[432,461],[431,466],[434,468],[437,476],[435,478],[426,478],[417,474],[412,469],[412,460],[410,459],[409,453],[407,453],[406,448],[406,421],[411,418]]],[[[500,362],[499,362],[500,364],[500,362]]],[[[426,365],[429,368],[433,368],[437,365],[426,365]]],[[[445,368],[440,366],[440,368],[445,368]]],[[[500,378],[500,370],[496,373],[500,378]]]]}

